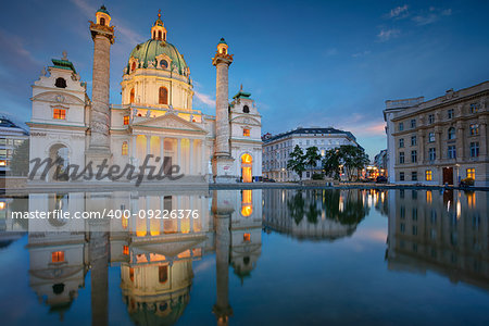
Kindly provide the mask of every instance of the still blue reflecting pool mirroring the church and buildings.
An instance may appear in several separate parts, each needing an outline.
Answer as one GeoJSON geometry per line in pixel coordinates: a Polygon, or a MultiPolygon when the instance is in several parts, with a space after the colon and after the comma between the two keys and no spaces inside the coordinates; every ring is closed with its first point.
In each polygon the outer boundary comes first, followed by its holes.
{"type": "Polygon", "coordinates": [[[2,325],[489,325],[488,200],[362,189],[0,198],[2,325]],[[130,216],[14,217],[53,210],[130,216]],[[175,210],[195,215],[154,218],[175,210]]]}

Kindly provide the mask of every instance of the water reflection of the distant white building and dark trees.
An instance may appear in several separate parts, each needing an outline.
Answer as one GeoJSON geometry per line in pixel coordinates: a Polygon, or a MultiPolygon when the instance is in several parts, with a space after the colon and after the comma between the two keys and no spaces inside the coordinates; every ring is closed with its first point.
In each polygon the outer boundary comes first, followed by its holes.
{"type": "Polygon", "coordinates": [[[298,239],[335,240],[351,236],[368,214],[365,190],[285,190],[264,193],[264,226],[298,239]]]}

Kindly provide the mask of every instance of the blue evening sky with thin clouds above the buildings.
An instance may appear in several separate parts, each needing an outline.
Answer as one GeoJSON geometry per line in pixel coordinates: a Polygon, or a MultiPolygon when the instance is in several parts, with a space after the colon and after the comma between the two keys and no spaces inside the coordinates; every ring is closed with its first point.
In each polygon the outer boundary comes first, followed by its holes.
{"type": "MultiPolygon", "coordinates": [[[[229,97],[242,84],[263,115],[262,131],[335,126],[373,158],[386,148],[388,99],[441,96],[489,79],[489,1],[125,1],[103,2],[116,26],[111,102],[122,70],[162,10],[167,40],[185,55],[195,109],[214,114],[211,58],[225,37],[235,62],[229,97]]],[[[30,116],[30,85],[67,51],[91,83],[92,0],[10,1],[0,12],[1,112],[30,116]]],[[[89,90],[91,96],[91,90],[89,90]]]]}

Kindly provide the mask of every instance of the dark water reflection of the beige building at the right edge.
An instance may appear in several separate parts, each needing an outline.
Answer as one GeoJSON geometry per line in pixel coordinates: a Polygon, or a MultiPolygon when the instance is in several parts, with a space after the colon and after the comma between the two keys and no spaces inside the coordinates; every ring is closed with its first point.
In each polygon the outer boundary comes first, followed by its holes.
{"type": "Polygon", "coordinates": [[[389,269],[435,272],[489,289],[488,197],[487,191],[390,190],[389,269]]]}

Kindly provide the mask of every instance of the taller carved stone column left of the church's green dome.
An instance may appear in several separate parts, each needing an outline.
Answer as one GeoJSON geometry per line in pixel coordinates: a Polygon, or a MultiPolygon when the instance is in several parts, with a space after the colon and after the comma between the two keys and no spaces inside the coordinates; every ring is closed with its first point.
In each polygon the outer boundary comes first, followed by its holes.
{"type": "Polygon", "coordinates": [[[111,156],[110,152],[110,67],[111,46],[114,43],[114,26],[104,5],[96,13],[96,22],[90,21],[93,39],[93,77],[91,87],[90,141],[87,161],[101,162],[111,156]]]}

